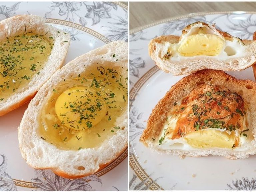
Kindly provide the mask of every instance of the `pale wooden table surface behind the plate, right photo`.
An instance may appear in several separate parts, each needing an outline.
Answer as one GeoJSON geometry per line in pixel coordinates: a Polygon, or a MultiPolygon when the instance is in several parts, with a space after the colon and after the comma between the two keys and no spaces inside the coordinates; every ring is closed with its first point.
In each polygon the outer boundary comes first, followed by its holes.
{"type": "Polygon", "coordinates": [[[256,11],[256,2],[130,2],[130,30],[190,13],[256,11]]]}

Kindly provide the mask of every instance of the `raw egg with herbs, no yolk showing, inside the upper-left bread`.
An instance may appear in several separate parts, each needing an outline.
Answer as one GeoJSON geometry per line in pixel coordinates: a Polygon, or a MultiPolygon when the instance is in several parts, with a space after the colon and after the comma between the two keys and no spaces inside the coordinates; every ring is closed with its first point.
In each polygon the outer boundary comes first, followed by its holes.
{"type": "Polygon", "coordinates": [[[9,97],[39,74],[53,47],[53,38],[27,33],[0,42],[0,98],[9,97]]]}

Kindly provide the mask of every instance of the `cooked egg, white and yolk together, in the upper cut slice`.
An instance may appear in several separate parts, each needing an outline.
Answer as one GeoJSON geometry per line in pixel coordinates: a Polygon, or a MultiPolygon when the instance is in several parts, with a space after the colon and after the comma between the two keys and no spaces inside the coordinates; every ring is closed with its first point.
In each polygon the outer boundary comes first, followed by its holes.
{"type": "Polygon", "coordinates": [[[202,56],[226,60],[242,57],[244,50],[245,46],[240,39],[223,37],[216,29],[200,23],[191,25],[189,31],[182,35],[179,43],[165,42],[161,57],[173,61],[202,56]]]}

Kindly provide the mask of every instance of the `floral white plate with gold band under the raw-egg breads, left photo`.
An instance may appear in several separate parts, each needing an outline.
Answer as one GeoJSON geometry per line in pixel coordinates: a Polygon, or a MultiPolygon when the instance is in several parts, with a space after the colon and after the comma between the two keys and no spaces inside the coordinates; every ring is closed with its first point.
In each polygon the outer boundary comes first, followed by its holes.
{"type": "MultiPolygon", "coordinates": [[[[1,2],[0,20],[19,14],[46,18],[71,34],[65,63],[110,41],[127,41],[127,5],[119,2],[1,2]]],[[[27,104],[0,117],[0,191],[127,190],[127,150],[106,168],[69,180],[50,170],[34,170],[22,159],[17,127],[27,104]]]]}

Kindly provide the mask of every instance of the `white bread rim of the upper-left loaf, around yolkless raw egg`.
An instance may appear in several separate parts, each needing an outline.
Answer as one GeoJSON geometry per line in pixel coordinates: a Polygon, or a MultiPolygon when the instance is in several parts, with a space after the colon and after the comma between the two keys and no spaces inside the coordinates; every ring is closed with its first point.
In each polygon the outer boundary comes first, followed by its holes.
{"type": "Polygon", "coordinates": [[[54,37],[54,47],[44,65],[44,69],[40,70],[40,74],[34,75],[24,90],[15,92],[9,98],[0,101],[0,116],[29,102],[44,82],[63,65],[68,51],[71,40],[70,35],[55,27],[46,25],[44,18],[36,15],[16,15],[0,21],[0,41],[9,36],[23,34],[25,25],[26,31],[38,34],[48,32],[49,35],[54,37]],[[66,43],[63,44],[63,41],[66,41],[66,43]]]}

